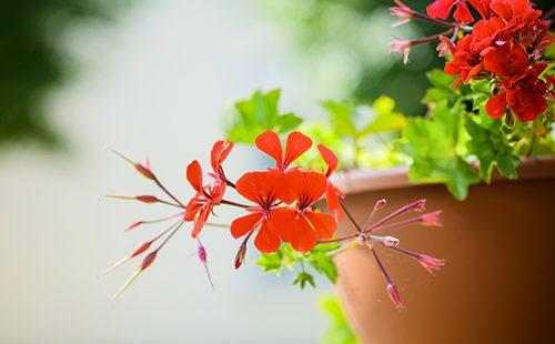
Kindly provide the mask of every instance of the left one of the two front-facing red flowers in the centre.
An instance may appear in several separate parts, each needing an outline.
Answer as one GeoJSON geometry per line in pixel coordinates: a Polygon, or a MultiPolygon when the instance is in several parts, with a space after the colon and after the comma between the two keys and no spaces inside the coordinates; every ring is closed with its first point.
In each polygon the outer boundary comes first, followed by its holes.
{"type": "Polygon", "coordinates": [[[261,252],[275,252],[281,240],[275,233],[278,224],[270,224],[270,214],[278,202],[278,195],[284,191],[283,174],[279,171],[249,172],[236,183],[238,192],[245,199],[259,204],[249,211],[252,214],[235,219],[231,223],[231,234],[238,239],[258,230],[254,245],[261,252]]]}

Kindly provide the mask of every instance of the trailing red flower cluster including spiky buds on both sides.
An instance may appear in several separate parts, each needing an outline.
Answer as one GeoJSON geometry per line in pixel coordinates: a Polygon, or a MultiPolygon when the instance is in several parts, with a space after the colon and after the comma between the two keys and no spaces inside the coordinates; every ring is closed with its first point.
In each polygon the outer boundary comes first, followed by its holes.
{"type": "Polygon", "coordinates": [[[400,241],[396,237],[375,234],[384,230],[413,224],[441,226],[440,212],[437,211],[392,222],[392,220],[401,214],[424,211],[425,200],[418,200],[404,205],[374,221],[376,213],[385,205],[385,200],[380,200],[376,202],[366,223],[361,226],[355,222],[347,209],[343,206],[342,199],[344,194],[331,181],[339,161],[330,149],[322,144],[317,145],[317,150],[325,163],[325,169],[322,169],[323,172],[316,172],[293,165],[295,160],[312,146],[312,140],[300,132],[292,132],[287,136],[284,148],[278,134],[272,131],[260,134],[255,143],[259,150],[275,161],[275,166],[265,171],[246,172],[236,183],[233,183],[228,179],[222,166],[233,150],[233,143],[218,141],[211,152],[211,172],[203,174],[202,168],[196,160],[191,162],[186,168],[186,180],[195,191],[195,195],[186,202],[186,205],[160,182],[151,170],[150,164],[143,165],[120,154],[144,178],[154,182],[169,200],[154,195],[111,198],[135,200],[147,204],[162,203],[178,208],[181,212],[157,220],[135,221],[127,229],[127,231],[131,231],[143,224],[176,220],[157,236],[138,245],[130,254],[109,269],[109,271],[112,271],[125,262],[145,254],[139,269],[123,284],[117,295],[121,294],[143,271],[155,262],[160,250],[183,227],[185,222],[193,223],[191,235],[198,242],[196,255],[204,266],[212,287],[213,284],[208,265],[208,252],[200,240],[200,233],[204,226],[229,227],[233,237],[244,237],[235,255],[235,269],[239,269],[243,264],[249,240],[253,235],[255,236],[254,246],[261,252],[275,252],[282,243],[289,243],[295,251],[309,252],[317,244],[349,242],[349,244],[340,245],[334,249],[335,251],[329,252],[329,256],[332,259],[336,254],[341,254],[357,245],[367,246],[385,279],[386,291],[397,307],[402,307],[401,295],[380,260],[374,243],[383,245],[387,250],[394,250],[411,256],[431,273],[436,272],[445,264],[445,260],[401,247],[400,241]],[[245,203],[224,199],[228,189],[235,191],[238,195],[245,200],[245,203]],[[323,202],[324,199],[327,209],[334,215],[315,210],[314,205],[320,201],[323,202]],[[209,217],[220,205],[239,208],[245,213],[233,220],[231,225],[209,222],[209,217]],[[345,212],[349,220],[353,223],[356,233],[334,237],[337,222],[343,217],[343,212],[345,212]],[[159,241],[162,242],[158,246],[152,247],[159,241]]]}

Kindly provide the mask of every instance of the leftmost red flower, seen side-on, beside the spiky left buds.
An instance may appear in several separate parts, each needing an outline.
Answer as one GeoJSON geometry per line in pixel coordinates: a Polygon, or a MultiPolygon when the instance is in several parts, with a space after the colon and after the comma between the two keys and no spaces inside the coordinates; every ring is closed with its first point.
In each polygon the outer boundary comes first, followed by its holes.
{"type": "Polygon", "coordinates": [[[222,201],[225,183],[213,180],[211,183],[203,185],[202,168],[196,160],[186,166],[186,179],[196,191],[196,195],[186,204],[184,220],[194,221],[191,236],[196,237],[214,205],[220,204],[222,201]]]}

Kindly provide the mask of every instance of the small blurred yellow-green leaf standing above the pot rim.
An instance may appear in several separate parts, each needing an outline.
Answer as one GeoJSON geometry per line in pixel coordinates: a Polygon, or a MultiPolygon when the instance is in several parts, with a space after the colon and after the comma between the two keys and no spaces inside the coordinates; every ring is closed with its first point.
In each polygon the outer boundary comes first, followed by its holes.
{"type": "Polygon", "coordinates": [[[395,112],[395,102],[393,99],[382,95],[372,104],[376,117],[359,133],[364,136],[372,133],[382,133],[386,131],[401,130],[406,123],[406,118],[395,112]]]}

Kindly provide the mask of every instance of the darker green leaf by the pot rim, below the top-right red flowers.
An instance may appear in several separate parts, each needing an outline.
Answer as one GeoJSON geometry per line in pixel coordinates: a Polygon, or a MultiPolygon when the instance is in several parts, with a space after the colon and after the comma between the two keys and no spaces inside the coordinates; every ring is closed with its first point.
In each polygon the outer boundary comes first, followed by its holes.
{"type": "Polygon", "coordinates": [[[480,160],[480,175],[490,183],[496,165],[501,175],[515,179],[519,159],[501,130],[501,121],[487,117],[485,110],[481,111],[477,120],[476,119],[468,119],[465,128],[472,138],[467,143],[468,152],[480,160]]]}

